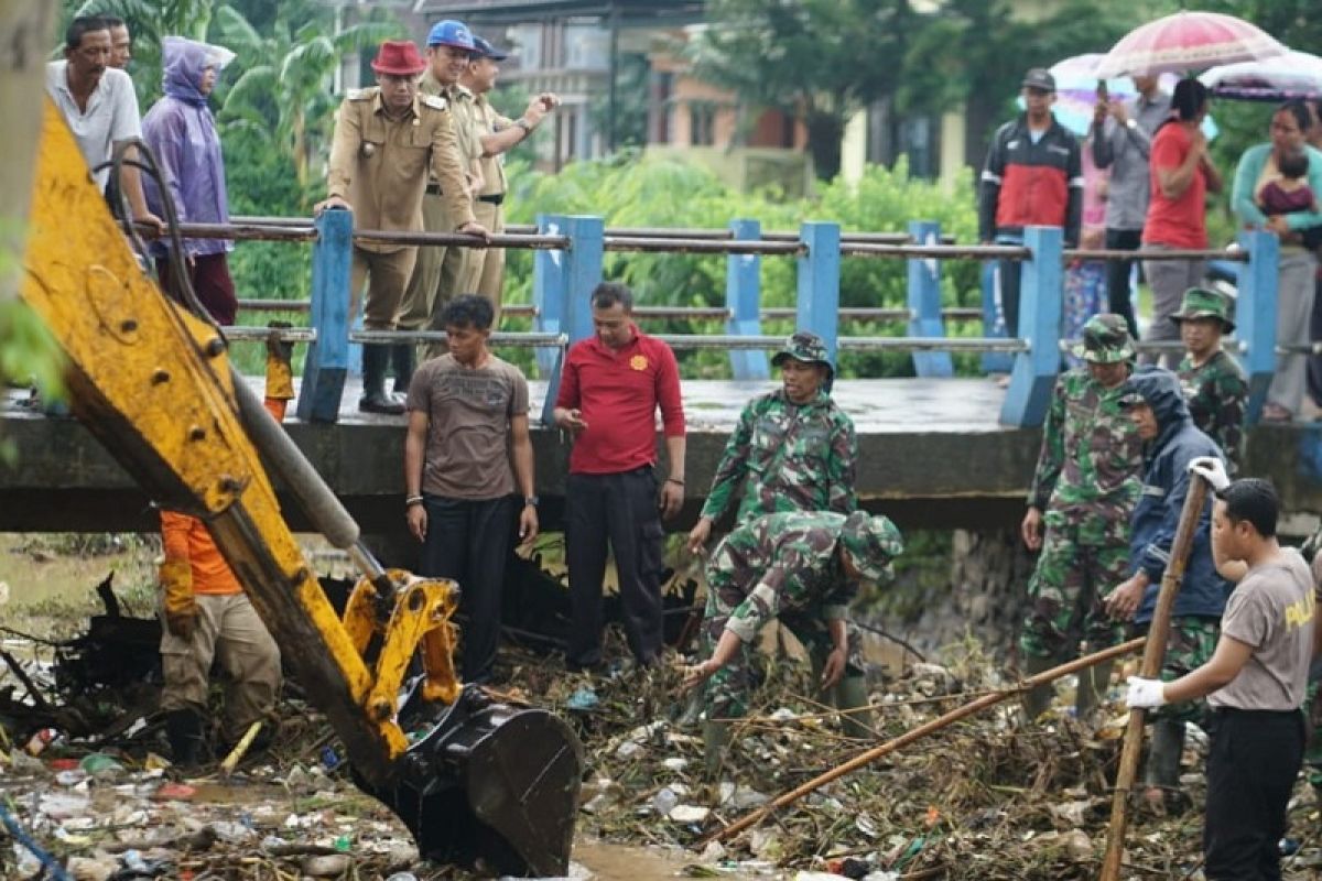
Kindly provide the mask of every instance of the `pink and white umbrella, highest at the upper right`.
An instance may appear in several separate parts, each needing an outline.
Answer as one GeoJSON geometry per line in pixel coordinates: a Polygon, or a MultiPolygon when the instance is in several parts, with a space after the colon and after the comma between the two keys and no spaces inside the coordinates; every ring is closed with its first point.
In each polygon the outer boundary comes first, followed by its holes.
{"type": "Polygon", "coordinates": [[[1285,53],[1274,37],[1235,16],[1177,12],[1125,34],[1101,59],[1097,75],[1186,73],[1285,53]]]}

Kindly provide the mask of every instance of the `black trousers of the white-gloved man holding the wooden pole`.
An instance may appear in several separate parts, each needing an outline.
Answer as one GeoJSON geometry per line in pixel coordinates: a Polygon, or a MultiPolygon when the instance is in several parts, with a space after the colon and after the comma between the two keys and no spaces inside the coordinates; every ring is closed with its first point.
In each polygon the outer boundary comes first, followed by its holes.
{"type": "Polygon", "coordinates": [[[1207,880],[1276,881],[1277,841],[1303,762],[1303,713],[1214,709],[1208,719],[1207,880]]]}

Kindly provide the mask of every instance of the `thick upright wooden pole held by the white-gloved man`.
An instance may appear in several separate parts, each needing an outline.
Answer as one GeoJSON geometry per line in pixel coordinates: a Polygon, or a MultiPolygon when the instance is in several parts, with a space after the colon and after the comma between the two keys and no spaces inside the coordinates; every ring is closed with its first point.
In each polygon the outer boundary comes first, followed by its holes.
{"type": "MultiPolygon", "coordinates": [[[[1170,613],[1175,606],[1179,582],[1185,579],[1188,549],[1194,546],[1194,532],[1198,531],[1198,519],[1206,501],[1207,481],[1198,476],[1190,477],[1188,494],[1185,495],[1185,507],[1181,509],[1179,526],[1175,528],[1175,540],[1170,546],[1170,563],[1166,564],[1166,572],[1161,577],[1157,609],[1153,612],[1153,621],[1147,627],[1144,662],[1138,668],[1138,675],[1146,679],[1161,675],[1161,666],[1166,659],[1166,641],[1170,635],[1170,613]]],[[[1107,853],[1101,861],[1100,881],[1117,881],[1120,877],[1120,861],[1125,852],[1125,826],[1129,820],[1125,812],[1129,807],[1129,790],[1138,774],[1138,756],[1144,746],[1146,719],[1147,711],[1145,709],[1129,711],[1129,726],[1125,729],[1124,748],[1120,752],[1120,769],[1116,771],[1116,791],[1110,799],[1110,824],[1107,827],[1107,853]]]]}

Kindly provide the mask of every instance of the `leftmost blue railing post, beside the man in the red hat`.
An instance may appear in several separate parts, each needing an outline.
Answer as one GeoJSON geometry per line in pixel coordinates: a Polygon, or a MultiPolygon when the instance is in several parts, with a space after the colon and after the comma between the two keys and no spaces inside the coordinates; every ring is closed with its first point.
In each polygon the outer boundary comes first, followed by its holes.
{"type": "Polygon", "coordinates": [[[353,213],[330,209],[316,219],[312,246],[312,326],[317,338],[303,362],[303,386],[295,408],[303,421],[340,417],[349,369],[349,276],[353,264],[353,213]]]}

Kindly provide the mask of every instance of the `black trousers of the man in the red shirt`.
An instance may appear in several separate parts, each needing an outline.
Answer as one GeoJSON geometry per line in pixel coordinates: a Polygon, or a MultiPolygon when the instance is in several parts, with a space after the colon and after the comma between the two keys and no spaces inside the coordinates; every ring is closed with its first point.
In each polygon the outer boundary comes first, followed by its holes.
{"type": "Polygon", "coordinates": [[[602,662],[602,579],[607,542],[620,580],[629,650],[641,664],[661,654],[661,512],[650,466],[620,474],[570,474],[564,493],[564,557],[574,627],[568,663],[602,662]]]}

